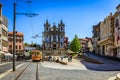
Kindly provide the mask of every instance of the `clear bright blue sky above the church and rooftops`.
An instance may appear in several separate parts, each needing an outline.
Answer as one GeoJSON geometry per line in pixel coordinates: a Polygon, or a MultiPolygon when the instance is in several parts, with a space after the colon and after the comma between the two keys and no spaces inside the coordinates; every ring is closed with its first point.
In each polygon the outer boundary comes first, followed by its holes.
{"type": "MultiPolygon", "coordinates": [[[[62,19],[65,24],[65,35],[71,41],[74,35],[79,38],[92,37],[92,26],[103,21],[110,12],[116,11],[119,0],[0,0],[3,4],[3,15],[9,20],[8,30],[13,31],[13,2],[17,1],[17,12],[33,12],[35,17],[17,15],[16,30],[24,33],[24,42],[41,44],[42,37],[31,38],[44,30],[48,19],[53,25],[58,25],[62,19]]],[[[42,34],[39,34],[42,36],[42,34]]]]}

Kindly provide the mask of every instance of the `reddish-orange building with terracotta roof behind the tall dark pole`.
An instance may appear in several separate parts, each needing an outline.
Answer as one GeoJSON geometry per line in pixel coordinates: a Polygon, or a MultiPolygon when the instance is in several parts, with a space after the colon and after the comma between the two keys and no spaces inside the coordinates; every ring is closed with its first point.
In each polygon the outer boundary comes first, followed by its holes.
{"type": "MultiPolygon", "coordinates": [[[[16,54],[23,55],[24,53],[24,37],[23,33],[16,32],[16,54]]],[[[9,41],[9,52],[13,53],[13,32],[8,33],[8,41],[9,41]]]]}

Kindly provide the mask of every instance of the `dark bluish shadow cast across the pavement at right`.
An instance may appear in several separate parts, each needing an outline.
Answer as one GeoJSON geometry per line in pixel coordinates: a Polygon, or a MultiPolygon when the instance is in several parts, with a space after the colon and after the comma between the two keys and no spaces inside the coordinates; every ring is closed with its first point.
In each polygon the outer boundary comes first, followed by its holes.
{"type": "Polygon", "coordinates": [[[120,62],[118,61],[113,61],[113,60],[102,58],[96,55],[90,55],[88,57],[103,63],[103,64],[92,64],[85,61],[81,61],[81,63],[84,66],[86,66],[86,68],[89,70],[120,71],[120,62]]]}

